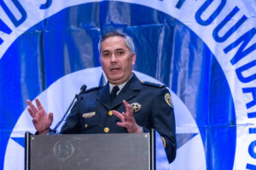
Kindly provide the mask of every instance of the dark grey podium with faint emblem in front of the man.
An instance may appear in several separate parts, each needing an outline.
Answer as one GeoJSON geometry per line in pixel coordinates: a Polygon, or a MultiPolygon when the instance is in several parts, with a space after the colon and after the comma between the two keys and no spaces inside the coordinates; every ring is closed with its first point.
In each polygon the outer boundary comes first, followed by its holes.
{"type": "Polygon", "coordinates": [[[26,170],[154,170],[151,133],[26,133],[26,170]]]}

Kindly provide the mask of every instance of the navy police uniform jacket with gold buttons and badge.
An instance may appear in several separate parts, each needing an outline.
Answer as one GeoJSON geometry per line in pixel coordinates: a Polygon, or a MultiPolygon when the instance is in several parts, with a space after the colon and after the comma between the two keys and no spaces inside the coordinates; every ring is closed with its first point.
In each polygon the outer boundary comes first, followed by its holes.
{"type": "Polygon", "coordinates": [[[174,160],[175,118],[170,92],[165,86],[141,82],[133,74],[112,102],[109,83],[90,88],[81,97],[67,116],[61,133],[127,133],[125,127],[117,126],[120,120],[112,114],[113,110],[125,112],[125,99],[132,106],[137,124],[160,133],[169,162],[174,160]]]}

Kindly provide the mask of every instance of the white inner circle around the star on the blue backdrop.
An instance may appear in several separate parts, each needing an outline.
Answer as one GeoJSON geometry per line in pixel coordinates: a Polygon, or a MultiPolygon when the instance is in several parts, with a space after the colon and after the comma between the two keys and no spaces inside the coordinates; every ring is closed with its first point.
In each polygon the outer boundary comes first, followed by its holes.
{"type": "MultiPolygon", "coordinates": [[[[161,83],[155,80],[153,77],[148,77],[147,75],[137,71],[134,72],[141,80],[161,83]]],[[[98,86],[101,77],[101,67],[76,71],[65,77],[61,77],[58,81],[49,86],[49,88],[47,88],[42,94],[38,95],[37,98],[41,101],[41,104],[44,105],[45,111],[52,111],[54,113],[54,122],[52,127],[55,127],[55,124],[61,120],[61,116],[63,116],[64,112],[67,110],[67,106],[72,101],[74,95],[79,93],[79,88],[83,84],[86,84],[88,88],[96,87],[98,86]]],[[[177,150],[177,158],[172,162],[171,169],[174,167],[179,167],[178,169],[181,170],[188,169],[188,167],[192,170],[206,169],[206,164],[202,163],[206,162],[206,158],[201,141],[201,135],[196,126],[194,118],[191,116],[189,110],[183,104],[183,102],[176,96],[176,94],[173,94],[172,91],[171,96],[176,116],[175,120],[177,133],[197,133],[193,139],[190,139],[186,144],[183,144],[183,146],[177,150]],[[191,154],[190,156],[186,154],[188,152],[191,154]],[[197,160],[199,159],[204,161],[195,161],[195,158],[197,160]],[[184,159],[188,160],[185,164],[183,163],[184,159]]],[[[60,128],[61,126],[59,127],[59,130],[60,128]]],[[[32,125],[32,118],[26,110],[22,112],[19,120],[16,122],[11,134],[11,138],[24,137],[24,133],[20,133],[20,131],[29,131],[31,133],[35,133],[35,128],[32,125]]],[[[20,157],[24,155],[24,148],[15,143],[15,141],[11,138],[9,139],[9,144],[5,155],[4,169],[24,168],[24,157],[20,157]],[[11,163],[14,159],[16,160],[15,165],[11,163]]],[[[166,167],[166,165],[159,166],[166,167]]]]}

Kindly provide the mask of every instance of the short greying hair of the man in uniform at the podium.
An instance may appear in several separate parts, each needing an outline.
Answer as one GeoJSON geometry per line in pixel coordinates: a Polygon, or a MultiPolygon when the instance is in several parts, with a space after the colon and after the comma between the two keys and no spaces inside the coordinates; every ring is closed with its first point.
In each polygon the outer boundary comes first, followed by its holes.
{"type": "Polygon", "coordinates": [[[119,31],[109,31],[106,34],[103,34],[103,36],[99,42],[99,45],[98,45],[99,51],[101,51],[102,42],[104,42],[108,37],[123,37],[123,38],[125,38],[125,45],[127,46],[127,48],[130,49],[131,54],[135,54],[135,48],[134,48],[134,43],[132,41],[132,38],[127,36],[125,33],[121,33],[119,31]]]}

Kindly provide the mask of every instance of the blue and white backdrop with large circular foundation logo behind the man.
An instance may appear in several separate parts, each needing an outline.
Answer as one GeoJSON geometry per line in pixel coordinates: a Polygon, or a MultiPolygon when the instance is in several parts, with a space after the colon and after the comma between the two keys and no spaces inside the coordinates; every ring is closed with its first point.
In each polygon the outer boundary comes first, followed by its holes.
{"type": "MultiPolygon", "coordinates": [[[[47,0],[44,4],[18,1],[0,3],[4,7],[3,12],[5,13],[1,18],[3,21],[1,26],[4,29],[2,30],[3,34],[0,35],[2,48],[0,50],[0,64],[3,65],[4,71],[1,72],[0,77],[3,77],[3,80],[7,78],[9,80],[9,83],[2,81],[1,87],[12,89],[12,84],[15,87],[11,94],[9,91],[1,89],[3,96],[15,96],[15,103],[11,103],[11,99],[3,100],[3,102],[1,100],[1,103],[9,110],[14,108],[14,111],[6,111],[13,113],[12,119],[9,119],[9,124],[13,123],[14,128],[10,138],[9,136],[4,137],[1,143],[3,147],[6,147],[6,151],[0,153],[0,157],[4,157],[4,169],[23,167],[24,162],[23,159],[20,159],[20,155],[23,155],[24,152],[24,142],[22,143],[23,131],[20,132],[20,129],[34,131],[30,122],[31,118],[25,108],[20,107],[20,105],[24,105],[28,98],[38,97],[46,111],[55,113],[55,122],[53,123],[55,125],[60,120],[61,113],[66,110],[63,105],[69,105],[73,95],[78,93],[82,84],[86,83],[89,88],[92,88],[102,81],[102,71],[98,67],[100,65],[99,59],[98,56],[94,56],[96,55],[94,50],[97,49],[96,40],[99,38],[100,29],[108,31],[115,26],[117,29],[120,28],[119,26],[127,26],[122,31],[131,35],[136,42],[137,64],[135,70],[138,71],[138,77],[149,82],[163,82],[172,90],[171,95],[166,94],[165,96],[168,105],[172,106],[172,101],[175,105],[177,123],[178,154],[176,160],[171,164],[171,168],[179,167],[179,169],[192,170],[216,167],[223,169],[222,166],[227,165],[227,162],[228,166],[224,167],[225,169],[232,169],[233,166],[238,169],[253,166],[245,161],[236,161],[239,160],[237,156],[244,156],[247,157],[247,160],[252,160],[250,156],[252,153],[247,153],[247,148],[241,143],[243,138],[236,138],[236,129],[234,129],[236,115],[232,96],[236,98],[235,101],[241,101],[240,98],[245,95],[249,98],[253,96],[253,89],[248,87],[247,83],[253,81],[253,71],[250,68],[253,68],[254,64],[251,62],[252,58],[249,54],[253,52],[255,47],[250,46],[249,42],[253,39],[255,30],[253,28],[244,29],[250,27],[246,26],[246,21],[249,19],[242,17],[238,24],[234,24],[234,29],[229,31],[228,26],[225,26],[227,24],[226,19],[233,17],[236,20],[238,15],[247,15],[239,7],[240,3],[230,2],[232,1],[220,3],[209,1],[205,3],[189,0],[177,2],[123,0],[94,3],[94,1],[77,0],[59,3],[47,0]],[[191,8],[192,6],[195,8],[191,8]],[[103,19],[101,13],[97,14],[97,11],[92,12],[92,8],[99,7],[104,7],[106,18],[103,19]],[[118,14],[116,14],[111,10],[113,8],[130,8],[131,10],[128,10],[130,13],[126,10],[120,10],[122,13],[117,12],[118,14]],[[77,18],[74,17],[73,11],[79,14],[76,15],[77,18]],[[17,12],[20,13],[20,18],[15,18],[16,15],[11,14],[17,12]],[[226,16],[224,16],[224,12],[227,14],[226,16]],[[67,17],[69,14],[73,17],[67,17]],[[91,17],[92,14],[96,17],[91,17]],[[157,17],[154,14],[157,14],[157,17]],[[206,16],[210,17],[207,18],[206,16]],[[82,29],[76,31],[61,30],[61,27],[73,28],[77,26],[73,25],[74,22],[70,21],[70,18],[80,22],[79,26],[82,29]],[[94,20],[95,18],[101,18],[103,24],[94,20]],[[45,19],[47,22],[42,21],[45,19]],[[60,27],[55,25],[56,21],[60,27]],[[10,22],[12,25],[9,24],[10,22]],[[212,23],[217,23],[213,31],[212,23]],[[93,26],[96,29],[89,29],[93,26]],[[106,26],[106,28],[102,28],[102,26],[106,26]],[[28,31],[21,32],[20,28],[28,31]],[[38,30],[44,31],[44,29],[47,31],[42,35],[38,30]],[[226,33],[219,34],[219,31],[226,33]],[[22,36],[20,36],[21,34],[22,36]],[[42,39],[42,37],[44,38],[42,39]],[[188,38],[184,37],[190,37],[190,40],[188,41],[188,38]],[[42,41],[45,41],[44,56],[41,56],[42,54],[38,52],[40,50],[37,47],[38,42],[42,41]],[[63,42],[65,43],[63,44],[63,42]],[[238,45],[241,43],[240,48],[238,45]],[[198,46],[203,49],[198,50],[198,46]],[[246,46],[250,50],[247,50],[246,46]],[[159,49],[159,47],[161,48],[159,49]],[[24,60],[21,61],[19,48],[24,49],[22,50],[22,59],[24,60]],[[162,49],[165,52],[160,54],[162,49]],[[247,53],[242,53],[242,51],[247,51],[247,53]],[[59,56],[65,56],[66,60],[59,56]],[[69,58],[69,56],[72,57],[69,58]],[[212,58],[209,59],[209,56],[212,58]],[[81,60],[80,57],[87,60],[81,60]],[[210,64],[209,60],[211,60],[210,64]],[[24,65],[34,65],[34,67],[24,67],[19,61],[24,65]],[[39,61],[42,63],[38,65],[39,61]],[[5,66],[9,63],[13,63],[15,68],[20,68],[20,70],[5,66]],[[42,67],[43,64],[44,68],[42,67]],[[30,68],[32,70],[29,70],[30,68]],[[43,72],[44,69],[46,70],[45,75],[38,72],[40,69],[43,72]],[[247,77],[242,74],[244,72],[247,77]],[[26,76],[23,75],[28,75],[29,78],[26,79],[26,76]],[[22,77],[23,79],[21,78],[22,81],[20,82],[20,78],[18,78],[17,82],[15,77],[22,77]],[[38,77],[44,78],[38,81],[38,77]],[[232,77],[235,79],[231,79],[232,77]],[[230,91],[236,95],[232,95],[230,91]],[[60,97],[63,95],[65,97],[60,97]],[[20,100],[17,101],[17,99],[20,100]],[[15,104],[18,103],[20,105],[16,106],[15,104]],[[212,136],[209,136],[210,134],[212,136]],[[209,145],[212,148],[206,147],[209,145]],[[236,147],[242,149],[236,151],[235,158],[236,147]],[[225,155],[222,153],[224,148],[226,150],[225,155]],[[20,153],[15,157],[17,160],[15,165],[11,163],[14,159],[12,153],[20,153]],[[189,159],[188,155],[191,156],[189,159]],[[215,156],[212,158],[215,160],[214,165],[212,165],[212,161],[207,161],[209,159],[206,159],[206,156],[210,158],[215,156]],[[183,165],[183,160],[187,160],[186,165],[183,165]]],[[[244,6],[245,4],[241,5],[244,6]]],[[[254,117],[252,110],[247,111],[253,108],[250,101],[242,101],[239,104],[235,103],[235,105],[239,111],[248,112],[248,116],[240,116],[242,120],[254,117]]],[[[239,130],[242,131],[243,129],[239,130]]],[[[251,131],[248,130],[248,132],[251,131]]],[[[247,146],[249,146],[252,137],[247,139],[247,146]]],[[[65,147],[69,150],[65,153],[58,152],[58,146],[55,150],[55,155],[62,156],[61,159],[63,160],[68,159],[67,157],[72,153],[70,144],[66,144],[65,147]]]]}

